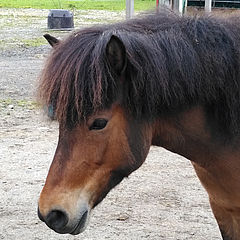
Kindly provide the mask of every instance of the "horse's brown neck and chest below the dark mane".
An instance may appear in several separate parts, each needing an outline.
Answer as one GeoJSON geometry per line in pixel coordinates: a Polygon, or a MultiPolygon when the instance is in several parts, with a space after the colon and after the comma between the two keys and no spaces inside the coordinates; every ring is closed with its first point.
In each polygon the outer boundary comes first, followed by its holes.
{"type": "Polygon", "coordinates": [[[239,144],[226,144],[211,134],[214,129],[211,130],[201,107],[158,119],[153,130],[153,145],[162,146],[192,161],[198,178],[208,192],[223,236],[239,240],[239,144]]]}

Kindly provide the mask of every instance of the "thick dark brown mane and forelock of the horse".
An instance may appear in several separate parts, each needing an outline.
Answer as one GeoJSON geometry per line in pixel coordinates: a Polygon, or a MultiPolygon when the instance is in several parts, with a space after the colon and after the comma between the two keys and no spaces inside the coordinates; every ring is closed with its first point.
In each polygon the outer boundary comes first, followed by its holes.
{"type": "Polygon", "coordinates": [[[118,78],[106,57],[112,35],[126,48],[129,112],[149,120],[201,105],[219,130],[240,133],[240,20],[166,9],[77,31],[53,50],[39,93],[60,122],[80,122],[117,100],[118,78]]]}

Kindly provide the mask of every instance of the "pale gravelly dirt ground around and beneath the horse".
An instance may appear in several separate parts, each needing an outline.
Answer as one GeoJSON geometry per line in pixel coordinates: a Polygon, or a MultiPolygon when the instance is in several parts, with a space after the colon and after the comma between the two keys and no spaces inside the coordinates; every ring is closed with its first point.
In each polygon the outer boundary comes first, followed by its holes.
{"type": "MultiPolygon", "coordinates": [[[[47,14],[0,9],[0,239],[221,239],[190,162],[157,147],[93,211],[84,233],[58,235],[38,219],[38,197],[58,135],[58,124],[47,120],[34,99],[50,51],[38,43],[47,32],[47,14]]],[[[122,12],[76,11],[75,25],[123,17],[122,12]]]]}

